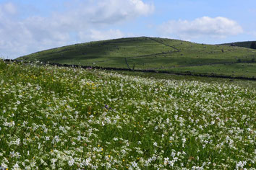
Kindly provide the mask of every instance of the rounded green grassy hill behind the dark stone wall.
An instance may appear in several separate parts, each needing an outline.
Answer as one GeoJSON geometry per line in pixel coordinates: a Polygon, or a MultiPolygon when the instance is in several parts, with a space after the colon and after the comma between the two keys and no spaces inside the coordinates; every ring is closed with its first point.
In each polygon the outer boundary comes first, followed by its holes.
{"type": "Polygon", "coordinates": [[[256,68],[240,63],[253,63],[255,56],[256,50],[248,48],[204,45],[155,37],[134,37],[69,45],[25,55],[18,59],[249,77],[256,76],[256,68]]]}

